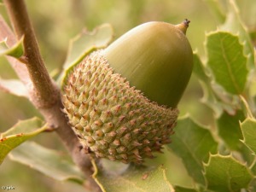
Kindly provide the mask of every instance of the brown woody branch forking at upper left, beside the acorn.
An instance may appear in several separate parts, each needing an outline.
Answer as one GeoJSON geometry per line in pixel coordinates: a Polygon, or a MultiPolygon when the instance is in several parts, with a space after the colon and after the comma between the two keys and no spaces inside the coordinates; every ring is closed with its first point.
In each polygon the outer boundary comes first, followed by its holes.
{"type": "Polygon", "coordinates": [[[67,125],[67,119],[61,112],[61,92],[49,77],[44,66],[23,0],[3,0],[3,3],[7,6],[9,17],[15,28],[16,38],[0,15],[0,39],[8,38],[7,44],[12,46],[17,38],[19,39],[24,35],[26,64],[24,65],[24,63],[8,56],[11,66],[26,85],[32,104],[43,114],[47,123],[55,128],[55,132],[61,137],[61,142],[72,155],[73,161],[84,172],[87,188],[92,191],[101,191],[91,177],[93,171],[89,156],[80,151],[78,137],[67,125]]]}

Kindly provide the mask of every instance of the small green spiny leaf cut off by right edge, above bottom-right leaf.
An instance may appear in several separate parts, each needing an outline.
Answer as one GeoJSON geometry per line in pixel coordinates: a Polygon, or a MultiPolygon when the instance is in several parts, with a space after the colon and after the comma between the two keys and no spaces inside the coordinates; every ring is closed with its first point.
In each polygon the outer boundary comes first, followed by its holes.
{"type": "Polygon", "coordinates": [[[243,143],[256,154],[256,119],[247,118],[241,123],[243,143]]]}

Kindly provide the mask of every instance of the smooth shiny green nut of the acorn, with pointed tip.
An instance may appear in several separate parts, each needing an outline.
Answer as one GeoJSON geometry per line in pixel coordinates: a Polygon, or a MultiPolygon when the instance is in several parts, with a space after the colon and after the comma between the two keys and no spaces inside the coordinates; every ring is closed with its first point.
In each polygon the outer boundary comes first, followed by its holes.
{"type": "Polygon", "coordinates": [[[189,20],[172,25],[152,21],[126,32],[104,51],[115,73],[151,101],[176,108],[193,68],[185,36],[189,20]]]}

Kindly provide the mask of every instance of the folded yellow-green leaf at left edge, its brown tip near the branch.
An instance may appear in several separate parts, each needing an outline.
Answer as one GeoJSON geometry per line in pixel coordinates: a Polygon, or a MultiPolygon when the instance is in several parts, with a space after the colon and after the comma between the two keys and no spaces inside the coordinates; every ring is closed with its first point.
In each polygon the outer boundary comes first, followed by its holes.
{"type": "Polygon", "coordinates": [[[26,140],[47,130],[47,126],[38,118],[20,120],[8,131],[0,134],[0,164],[9,152],[26,140]]]}

